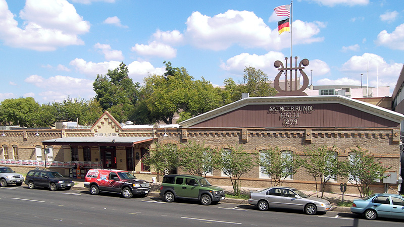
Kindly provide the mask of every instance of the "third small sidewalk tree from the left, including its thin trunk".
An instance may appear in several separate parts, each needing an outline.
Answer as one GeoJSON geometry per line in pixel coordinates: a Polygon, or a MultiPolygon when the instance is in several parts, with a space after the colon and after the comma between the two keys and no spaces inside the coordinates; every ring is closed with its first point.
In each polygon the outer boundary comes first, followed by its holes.
{"type": "Polygon", "coordinates": [[[221,149],[215,154],[214,166],[222,169],[223,174],[231,180],[235,196],[240,195],[241,176],[248,173],[254,166],[251,154],[243,151],[242,146],[221,149]]]}

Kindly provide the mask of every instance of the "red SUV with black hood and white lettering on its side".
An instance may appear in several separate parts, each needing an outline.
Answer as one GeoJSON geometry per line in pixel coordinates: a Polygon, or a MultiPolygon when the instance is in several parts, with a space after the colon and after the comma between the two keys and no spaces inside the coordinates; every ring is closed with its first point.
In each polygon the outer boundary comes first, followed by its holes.
{"type": "Polygon", "coordinates": [[[119,169],[93,168],[85,176],[84,187],[90,193],[97,195],[99,191],[122,193],[125,198],[135,195],[147,196],[150,184],[147,181],[136,179],[127,171],[119,169]]]}

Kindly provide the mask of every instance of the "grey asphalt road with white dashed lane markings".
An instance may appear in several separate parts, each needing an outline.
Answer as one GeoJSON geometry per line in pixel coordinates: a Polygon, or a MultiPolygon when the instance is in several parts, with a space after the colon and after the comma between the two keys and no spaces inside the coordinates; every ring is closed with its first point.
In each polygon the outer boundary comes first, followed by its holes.
{"type": "Polygon", "coordinates": [[[198,201],[165,203],[156,197],[48,189],[0,188],[1,226],[399,226],[404,220],[365,220],[350,213],[309,216],[300,211],[259,211],[253,206],[198,201]]]}

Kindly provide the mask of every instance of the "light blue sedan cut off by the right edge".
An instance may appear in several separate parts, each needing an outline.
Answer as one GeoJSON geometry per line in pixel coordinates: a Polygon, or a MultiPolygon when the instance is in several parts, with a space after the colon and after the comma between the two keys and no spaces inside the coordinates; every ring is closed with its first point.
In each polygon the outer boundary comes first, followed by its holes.
{"type": "Polygon", "coordinates": [[[350,211],[364,215],[369,220],[373,220],[378,216],[404,219],[404,196],[372,194],[363,199],[355,199],[350,211]]]}

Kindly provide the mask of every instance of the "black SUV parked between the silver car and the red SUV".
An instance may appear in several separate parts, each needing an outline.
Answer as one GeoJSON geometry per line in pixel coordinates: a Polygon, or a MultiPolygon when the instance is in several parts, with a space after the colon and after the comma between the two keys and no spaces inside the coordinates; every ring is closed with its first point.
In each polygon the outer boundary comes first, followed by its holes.
{"type": "Polygon", "coordinates": [[[70,190],[74,182],[70,178],[65,178],[56,171],[48,169],[34,169],[28,172],[24,183],[29,189],[36,187],[49,188],[51,191],[58,189],[70,190]]]}

